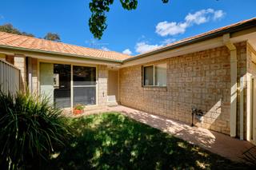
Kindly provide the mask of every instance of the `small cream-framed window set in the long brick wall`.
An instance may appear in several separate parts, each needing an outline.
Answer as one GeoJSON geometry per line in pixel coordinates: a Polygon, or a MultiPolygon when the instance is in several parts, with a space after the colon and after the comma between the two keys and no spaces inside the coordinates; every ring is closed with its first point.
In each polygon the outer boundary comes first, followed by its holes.
{"type": "Polygon", "coordinates": [[[166,86],[166,63],[143,67],[143,85],[166,86]]]}

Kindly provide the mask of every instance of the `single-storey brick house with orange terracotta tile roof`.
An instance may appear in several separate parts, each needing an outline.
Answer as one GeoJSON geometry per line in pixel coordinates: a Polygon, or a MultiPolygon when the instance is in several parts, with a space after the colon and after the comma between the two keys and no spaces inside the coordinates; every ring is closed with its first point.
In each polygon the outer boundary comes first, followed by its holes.
{"type": "MultiPolygon", "coordinates": [[[[126,105],[256,144],[256,18],[137,56],[0,32],[21,86],[58,107],[126,105]]],[[[1,70],[0,70],[1,71],[1,70]]]]}

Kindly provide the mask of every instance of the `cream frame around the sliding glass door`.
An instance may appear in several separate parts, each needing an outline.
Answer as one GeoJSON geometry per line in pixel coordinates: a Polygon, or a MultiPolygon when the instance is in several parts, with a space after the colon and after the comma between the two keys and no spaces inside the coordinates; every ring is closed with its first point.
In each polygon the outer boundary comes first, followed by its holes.
{"type": "MultiPolygon", "coordinates": [[[[37,77],[38,77],[38,94],[40,95],[40,63],[51,63],[51,64],[63,64],[63,65],[70,65],[71,67],[71,72],[70,72],[70,76],[71,76],[71,80],[70,80],[70,102],[71,102],[71,108],[70,109],[73,109],[74,105],[73,105],[73,100],[74,100],[74,97],[73,97],[73,94],[74,94],[74,87],[73,87],[73,65],[78,65],[78,66],[89,66],[89,67],[95,67],[96,68],[96,104],[95,105],[90,105],[92,107],[94,106],[98,106],[98,65],[90,65],[90,64],[81,64],[81,63],[75,63],[75,62],[66,62],[66,61],[50,61],[50,60],[39,60],[38,59],[38,74],[37,74],[37,77]]],[[[90,107],[90,106],[87,106],[87,107],[90,107]]],[[[65,108],[65,109],[69,109],[69,108],[65,108]]]]}

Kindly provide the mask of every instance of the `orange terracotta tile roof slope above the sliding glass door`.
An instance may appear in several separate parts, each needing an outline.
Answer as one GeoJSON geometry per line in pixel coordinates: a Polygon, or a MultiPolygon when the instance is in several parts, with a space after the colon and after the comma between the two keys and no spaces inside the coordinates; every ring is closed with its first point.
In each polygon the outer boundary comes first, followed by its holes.
{"type": "Polygon", "coordinates": [[[78,45],[69,45],[62,42],[53,42],[39,38],[8,34],[0,32],[0,45],[18,47],[24,49],[34,49],[42,52],[55,52],[84,57],[100,57],[102,59],[122,61],[131,56],[114,51],[104,51],[101,49],[90,49],[78,45]]]}

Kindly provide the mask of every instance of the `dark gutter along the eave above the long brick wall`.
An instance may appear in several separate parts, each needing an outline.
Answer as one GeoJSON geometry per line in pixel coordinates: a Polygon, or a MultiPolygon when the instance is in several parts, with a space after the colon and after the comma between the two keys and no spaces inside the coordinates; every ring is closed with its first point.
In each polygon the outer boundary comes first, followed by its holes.
{"type": "Polygon", "coordinates": [[[205,41],[205,40],[208,40],[208,39],[211,39],[211,38],[221,37],[223,34],[232,34],[234,32],[238,32],[240,30],[250,29],[254,26],[256,26],[256,18],[251,19],[251,21],[249,21],[249,22],[242,23],[238,26],[233,26],[233,27],[231,26],[230,28],[227,28],[227,29],[224,29],[224,30],[219,30],[219,31],[214,32],[212,34],[206,34],[206,35],[203,35],[202,37],[193,38],[191,40],[188,40],[188,41],[185,41],[185,42],[180,42],[178,44],[174,44],[174,45],[170,45],[170,46],[166,46],[166,47],[163,47],[161,49],[156,49],[156,50],[150,51],[148,53],[142,53],[142,54],[139,54],[138,56],[128,58],[128,59],[124,60],[123,62],[134,61],[136,59],[147,57],[147,56],[150,56],[150,55],[153,55],[153,54],[156,54],[156,53],[162,53],[162,52],[165,52],[165,51],[170,50],[170,49],[177,49],[177,48],[185,46],[185,45],[194,44],[196,42],[202,42],[202,41],[205,41]]]}

